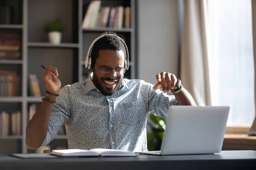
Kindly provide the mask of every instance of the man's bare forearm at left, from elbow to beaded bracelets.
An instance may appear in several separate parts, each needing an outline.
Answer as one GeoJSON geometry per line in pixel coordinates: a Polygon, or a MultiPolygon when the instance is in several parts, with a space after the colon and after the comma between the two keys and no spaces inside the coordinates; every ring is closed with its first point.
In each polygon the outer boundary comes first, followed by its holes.
{"type": "MultiPolygon", "coordinates": [[[[56,96],[46,95],[47,99],[55,100],[56,96]]],[[[44,142],[47,135],[49,116],[53,103],[43,101],[26,127],[26,145],[30,149],[37,149],[44,142]]]]}

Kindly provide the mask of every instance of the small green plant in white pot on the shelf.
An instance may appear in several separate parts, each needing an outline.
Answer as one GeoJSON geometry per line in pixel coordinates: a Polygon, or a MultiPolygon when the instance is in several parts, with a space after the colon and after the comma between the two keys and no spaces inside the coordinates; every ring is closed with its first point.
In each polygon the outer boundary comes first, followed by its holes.
{"type": "Polygon", "coordinates": [[[55,19],[47,23],[46,31],[48,33],[49,42],[52,44],[60,44],[63,24],[61,20],[55,19]]]}

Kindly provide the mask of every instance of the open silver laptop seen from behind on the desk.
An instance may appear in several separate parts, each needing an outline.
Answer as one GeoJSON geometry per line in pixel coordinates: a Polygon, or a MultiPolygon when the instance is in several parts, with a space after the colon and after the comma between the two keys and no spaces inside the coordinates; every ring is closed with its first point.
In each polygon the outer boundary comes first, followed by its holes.
{"type": "Polygon", "coordinates": [[[159,151],[154,155],[213,154],[221,152],[229,106],[170,106],[159,151]]]}

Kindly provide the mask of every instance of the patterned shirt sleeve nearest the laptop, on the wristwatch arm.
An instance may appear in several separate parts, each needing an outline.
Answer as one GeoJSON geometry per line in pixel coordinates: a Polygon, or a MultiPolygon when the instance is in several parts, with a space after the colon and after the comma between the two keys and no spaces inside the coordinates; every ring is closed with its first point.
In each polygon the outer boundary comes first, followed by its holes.
{"type": "Polygon", "coordinates": [[[160,89],[154,90],[153,86],[148,85],[148,112],[167,118],[169,107],[177,105],[177,100],[174,95],[163,93],[160,89]]]}

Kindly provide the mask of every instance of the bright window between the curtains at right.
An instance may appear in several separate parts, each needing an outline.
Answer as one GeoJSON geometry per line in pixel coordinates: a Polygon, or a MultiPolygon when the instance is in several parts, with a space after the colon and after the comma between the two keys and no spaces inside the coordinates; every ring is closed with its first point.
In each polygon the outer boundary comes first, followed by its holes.
{"type": "Polygon", "coordinates": [[[251,0],[207,1],[212,105],[229,105],[227,126],[250,127],[254,110],[251,0]]]}

